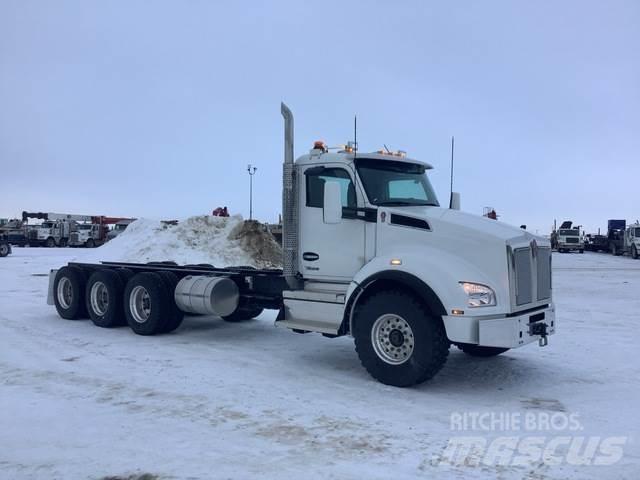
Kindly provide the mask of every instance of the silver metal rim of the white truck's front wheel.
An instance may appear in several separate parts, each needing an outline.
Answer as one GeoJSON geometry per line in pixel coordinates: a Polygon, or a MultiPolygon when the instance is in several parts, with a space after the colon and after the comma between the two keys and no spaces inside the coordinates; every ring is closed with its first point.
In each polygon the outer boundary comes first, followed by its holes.
{"type": "Polygon", "coordinates": [[[381,360],[391,365],[401,365],[413,353],[413,330],[404,318],[387,313],[373,323],[371,344],[381,360]]]}

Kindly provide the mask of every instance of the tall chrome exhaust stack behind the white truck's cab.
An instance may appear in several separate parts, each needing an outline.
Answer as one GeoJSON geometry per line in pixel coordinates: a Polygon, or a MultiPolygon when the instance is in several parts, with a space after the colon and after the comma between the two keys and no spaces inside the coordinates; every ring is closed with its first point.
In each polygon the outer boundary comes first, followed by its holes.
{"type": "Polygon", "coordinates": [[[282,270],[292,290],[302,288],[298,268],[298,188],[293,164],[293,114],[284,103],[284,164],[282,166],[282,270]]]}

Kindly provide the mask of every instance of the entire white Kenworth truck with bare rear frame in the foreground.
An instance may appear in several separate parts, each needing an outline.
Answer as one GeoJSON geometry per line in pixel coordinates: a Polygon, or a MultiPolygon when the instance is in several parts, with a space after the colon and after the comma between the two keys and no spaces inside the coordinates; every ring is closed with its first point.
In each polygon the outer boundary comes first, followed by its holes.
{"type": "Polygon", "coordinates": [[[294,332],[353,336],[366,370],[401,387],[433,377],[451,344],[475,356],[546,345],[556,327],[547,240],[441,207],[431,165],[402,153],[316,143],[294,161],[284,104],[282,115],[282,270],[69,263],[50,275],[60,316],[153,335],[185,313],[235,321],[275,309],[294,332]]]}

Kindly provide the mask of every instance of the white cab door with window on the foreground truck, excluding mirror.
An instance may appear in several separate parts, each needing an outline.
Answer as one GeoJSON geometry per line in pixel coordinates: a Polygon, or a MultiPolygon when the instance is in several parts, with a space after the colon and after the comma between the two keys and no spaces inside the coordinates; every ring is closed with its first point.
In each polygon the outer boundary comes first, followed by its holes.
{"type": "Polygon", "coordinates": [[[306,167],[301,173],[301,273],[309,280],[349,282],[365,263],[365,221],[343,214],[340,223],[324,223],[324,185],[337,182],[343,211],[355,210],[363,201],[355,172],[344,164],[326,164],[306,167]]]}

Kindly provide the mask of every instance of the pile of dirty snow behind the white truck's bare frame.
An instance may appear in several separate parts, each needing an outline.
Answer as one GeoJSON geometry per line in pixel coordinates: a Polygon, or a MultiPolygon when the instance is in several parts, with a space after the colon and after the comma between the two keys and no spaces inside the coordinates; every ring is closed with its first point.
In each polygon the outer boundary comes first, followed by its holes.
{"type": "Polygon", "coordinates": [[[266,228],[241,216],[190,217],[177,225],[139,219],[115,239],[97,248],[93,261],[155,262],[216,267],[250,265],[280,268],[282,251],[266,228]]]}

